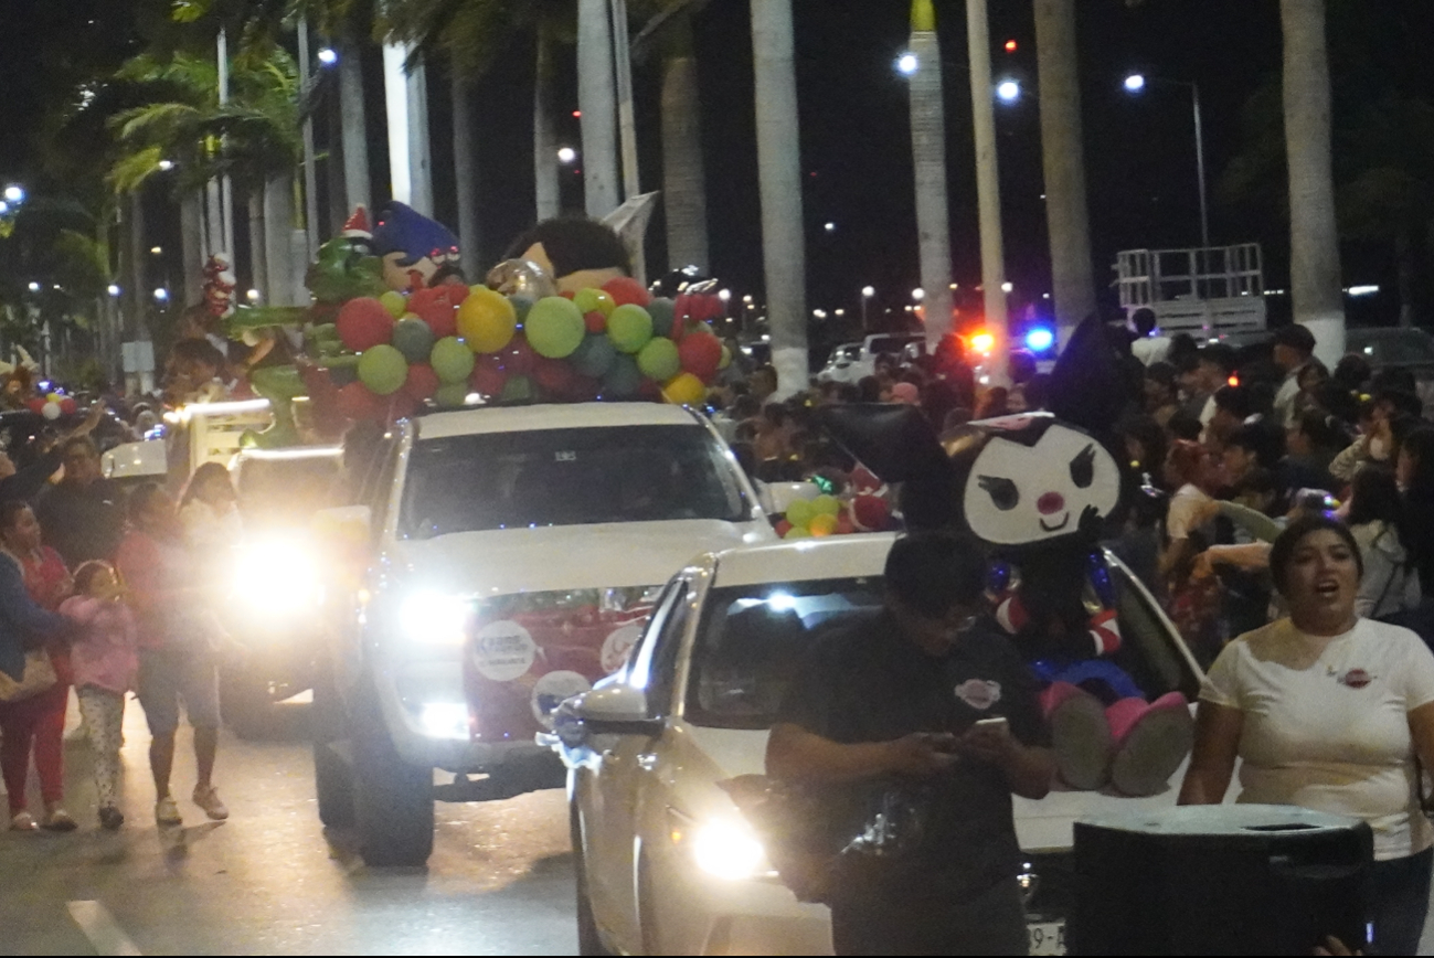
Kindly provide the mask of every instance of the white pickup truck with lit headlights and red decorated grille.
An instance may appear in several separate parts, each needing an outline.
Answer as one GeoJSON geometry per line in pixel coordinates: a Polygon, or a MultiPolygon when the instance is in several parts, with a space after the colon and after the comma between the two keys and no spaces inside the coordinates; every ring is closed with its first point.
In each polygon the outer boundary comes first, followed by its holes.
{"type": "Polygon", "coordinates": [[[361,558],[328,599],[314,776],[370,865],[427,859],[436,797],[561,786],[535,743],[558,703],[622,665],[694,555],[776,541],[711,425],[674,406],[435,413],[356,459],[358,505],[323,516],[361,558]]]}

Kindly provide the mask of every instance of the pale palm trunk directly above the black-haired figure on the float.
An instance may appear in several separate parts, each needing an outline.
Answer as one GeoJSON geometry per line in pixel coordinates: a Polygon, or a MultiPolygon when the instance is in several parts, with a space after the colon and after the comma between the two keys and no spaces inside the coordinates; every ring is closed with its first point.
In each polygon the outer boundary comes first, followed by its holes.
{"type": "Polygon", "coordinates": [[[589,217],[601,219],[618,208],[617,87],[605,0],[578,0],[578,109],[584,205],[589,217]]]}

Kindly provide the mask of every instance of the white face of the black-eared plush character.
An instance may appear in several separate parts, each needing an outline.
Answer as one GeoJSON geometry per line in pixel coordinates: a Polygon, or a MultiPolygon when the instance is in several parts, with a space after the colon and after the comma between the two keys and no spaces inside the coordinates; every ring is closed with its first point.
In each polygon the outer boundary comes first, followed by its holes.
{"type": "Polygon", "coordinates": [[[1034,545],[1076,532],[1088,508],[1100,518],[1116,511],[1120,466],[1091,436],[1050,419],[992,426],[997,435],[971,465],[964,493],[967,523],[978,538],[1034,545]]]}

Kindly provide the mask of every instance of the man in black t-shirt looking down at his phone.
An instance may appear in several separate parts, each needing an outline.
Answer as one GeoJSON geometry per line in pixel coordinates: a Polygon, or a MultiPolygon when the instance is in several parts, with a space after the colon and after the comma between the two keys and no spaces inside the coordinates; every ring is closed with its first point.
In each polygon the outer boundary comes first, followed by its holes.
{"type": "Polygon", "coordinates": [[[1025,954],[1011,795],[1044,797],[1054,759],[1035,683],[984,617],[975,545],[899,539],[886,604],[812,650],[777,714],[767,774],[896,793],[921,838],[833,891],[839,955],[1025,954]]]}

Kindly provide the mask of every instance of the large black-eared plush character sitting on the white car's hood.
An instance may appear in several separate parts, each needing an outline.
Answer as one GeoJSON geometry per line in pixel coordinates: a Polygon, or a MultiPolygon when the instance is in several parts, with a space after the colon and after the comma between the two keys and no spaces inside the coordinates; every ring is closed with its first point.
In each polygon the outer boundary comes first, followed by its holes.
{"type": "Polygon", "coordinates": [[[835,406],[820,422],[863,466],[902,483],[909,529],[959,529],[987,545],[992,611],[1044,686],[1065,783],[1141,796],[1167,786],[1193,724],[1182,693],[1147,700],[1144,658],[1123,654],[1121,597],[1100,548],[1126,485],[1104,440],[1126,403],[1117,381],[1106,331],[1087,320],[1051,376],[1050,413],[941,440],[906,406],[835,406]]]}

